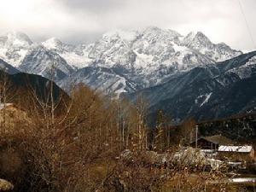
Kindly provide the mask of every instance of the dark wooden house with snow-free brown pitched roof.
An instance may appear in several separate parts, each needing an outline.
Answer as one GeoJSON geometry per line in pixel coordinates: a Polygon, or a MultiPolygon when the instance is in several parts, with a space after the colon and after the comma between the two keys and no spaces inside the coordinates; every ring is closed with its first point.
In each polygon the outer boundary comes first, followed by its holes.
{"type": "MultiPolygon", "coordinates": [[[[220,145],[232,145],[234,142],[227,137],[215,135],[211,137],[200,137],[197,140],[197,148],[218,150],[220,145]]],[[[196,142],[190,143],[190,146],[195,148],[196,142]]]]}

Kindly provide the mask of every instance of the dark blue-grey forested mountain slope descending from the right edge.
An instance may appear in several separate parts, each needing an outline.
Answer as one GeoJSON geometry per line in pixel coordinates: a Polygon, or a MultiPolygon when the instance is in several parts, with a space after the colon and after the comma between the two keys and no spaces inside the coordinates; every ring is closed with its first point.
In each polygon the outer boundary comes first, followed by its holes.
{"type": "MultiPolygon", "coordinates": [[[[166,83],[128,96],[137,95],[150,103],[152,117],[159,109],[176,122],[189,117],[198,120],[229,117],[256,111],[256,52],[227,61],[195,67],[166,83]]],[[[153,119],[153,118],[152,118],[153,119]]]]}

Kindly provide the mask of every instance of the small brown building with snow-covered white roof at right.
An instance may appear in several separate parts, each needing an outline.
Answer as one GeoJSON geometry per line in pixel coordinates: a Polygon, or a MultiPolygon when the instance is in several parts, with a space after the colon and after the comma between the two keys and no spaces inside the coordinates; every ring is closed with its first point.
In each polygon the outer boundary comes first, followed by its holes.
{"type": "Polygon", "coordinates": [[[226,146],[220,145],[218,147],[218,156],[220,159],[228,160],[253,160],[254,159],[254,149],[251,145],[241,145],[241,146],[226,146]]]}

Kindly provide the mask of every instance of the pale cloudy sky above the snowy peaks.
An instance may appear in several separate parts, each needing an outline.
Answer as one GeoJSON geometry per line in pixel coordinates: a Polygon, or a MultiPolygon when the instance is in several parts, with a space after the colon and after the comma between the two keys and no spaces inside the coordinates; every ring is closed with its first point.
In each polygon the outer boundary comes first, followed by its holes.
{"type": "Polygon", "coordinates": [[[256,49],[255,9],[256,0],[0,0],[0,33],[78,44],[114,29],[159,26],[183,35],[201,31],[214,43],[251,50],[256,49]]]}

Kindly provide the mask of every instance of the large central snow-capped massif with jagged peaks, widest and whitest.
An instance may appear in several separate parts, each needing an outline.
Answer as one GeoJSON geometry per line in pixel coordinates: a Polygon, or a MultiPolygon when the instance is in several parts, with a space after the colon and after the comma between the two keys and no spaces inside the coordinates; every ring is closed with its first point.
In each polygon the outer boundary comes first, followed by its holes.
{"type": "Polygon", "coordinates": [[[119,64],[126,69],[143,68],[143,73],[152,73],[160,65],[183,71],[240,54],[241,51],[225,44],[212,44],[201,32],[183,37],[178,32],[157,27],[141,32],[109,32],[90,46],[89,51],[90,59],[105,67],[119,64]]]}

